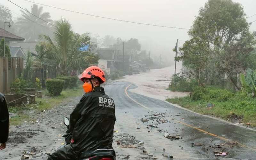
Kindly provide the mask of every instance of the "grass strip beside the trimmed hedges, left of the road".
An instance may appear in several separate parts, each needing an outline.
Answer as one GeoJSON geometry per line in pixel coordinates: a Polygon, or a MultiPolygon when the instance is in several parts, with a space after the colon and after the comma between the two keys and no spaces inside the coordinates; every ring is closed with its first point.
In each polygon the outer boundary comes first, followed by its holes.
{"type": "Polygon", "coordinates": [[[17,114],[16,116],[10,118],[10,125],[20,125],[24,121],[34,121],[34,119],[28,115],[28,110],[36,109],[37,111],[44,111],[51,109],[55,106],[58,106],[60,103],[72,100],[72,98],[74,97],[82,96],[83,89],[74,88],[63,90],[60,96],[57,97],[47,96],[48,92],[46,90],[44,90],[43,93],[43,98],[36,98],[36,103],[26,105],[27,108],[25,108],[24,106],[10,106],[8,108],[9,112],[17,114]]]}

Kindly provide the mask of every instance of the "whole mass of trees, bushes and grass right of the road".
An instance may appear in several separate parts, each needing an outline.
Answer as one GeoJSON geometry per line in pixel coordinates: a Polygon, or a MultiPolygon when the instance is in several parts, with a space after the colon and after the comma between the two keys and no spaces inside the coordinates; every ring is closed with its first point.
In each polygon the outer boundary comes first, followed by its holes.
{"type": "Polygon", "coordinates": [[[168,89],[189,96],[167,101],[256,126],[256,34],[250,25],[241,4],[206,2],[188,31],[190,39],[174,49],[183,70],[172,76],[168,89]]]}

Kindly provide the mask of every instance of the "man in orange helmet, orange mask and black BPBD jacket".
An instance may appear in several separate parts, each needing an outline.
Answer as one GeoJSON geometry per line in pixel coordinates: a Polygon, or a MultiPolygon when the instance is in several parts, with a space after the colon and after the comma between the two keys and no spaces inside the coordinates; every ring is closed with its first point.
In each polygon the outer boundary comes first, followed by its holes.
{"type": "Polygon", "coordinates": [[[105,74],[99,67],[92,66],[79,78],[84,82],[85,94],[70,115],[68,131],[74,142],[52,153],[48,160],[77,159],[82,152],[113,149],[115,103],[100,87],[106,81],[105,74]]]}

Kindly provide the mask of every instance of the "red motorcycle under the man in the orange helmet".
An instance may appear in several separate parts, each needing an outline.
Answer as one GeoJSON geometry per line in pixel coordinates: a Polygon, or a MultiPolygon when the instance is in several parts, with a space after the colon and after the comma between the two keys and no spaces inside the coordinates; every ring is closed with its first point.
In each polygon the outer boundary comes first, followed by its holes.
{"type": "MultiPolygon", "coordinates": [[[[69,126],[69,119],[65,117],[63,123],[69,126]]],[[[70,143],[73,143],[72,134],[70,132],[66,132],[62,135],[65,138],[66,143],[61,145],[59,148],[65,147],[70,143]]],[[[59,149],[58,148],[58,149],[59,149]]],[[[79,160],[116,160],[116,152],[113,149],[96,149],[92,152],[82,152],[80,154],[79,160]]]]}

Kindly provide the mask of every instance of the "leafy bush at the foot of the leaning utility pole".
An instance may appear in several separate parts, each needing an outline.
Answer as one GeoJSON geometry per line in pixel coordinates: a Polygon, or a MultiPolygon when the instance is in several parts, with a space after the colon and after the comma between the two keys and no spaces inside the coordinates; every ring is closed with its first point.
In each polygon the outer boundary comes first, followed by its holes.
{"type": "Polygon", "coordinates": [[[191,92],[192,88],[197,85],[195,79],[188,81],[187,78],[180,73],[173,75],[171,82],[172,83],[168,88],[171,91],[191,92]]]}

